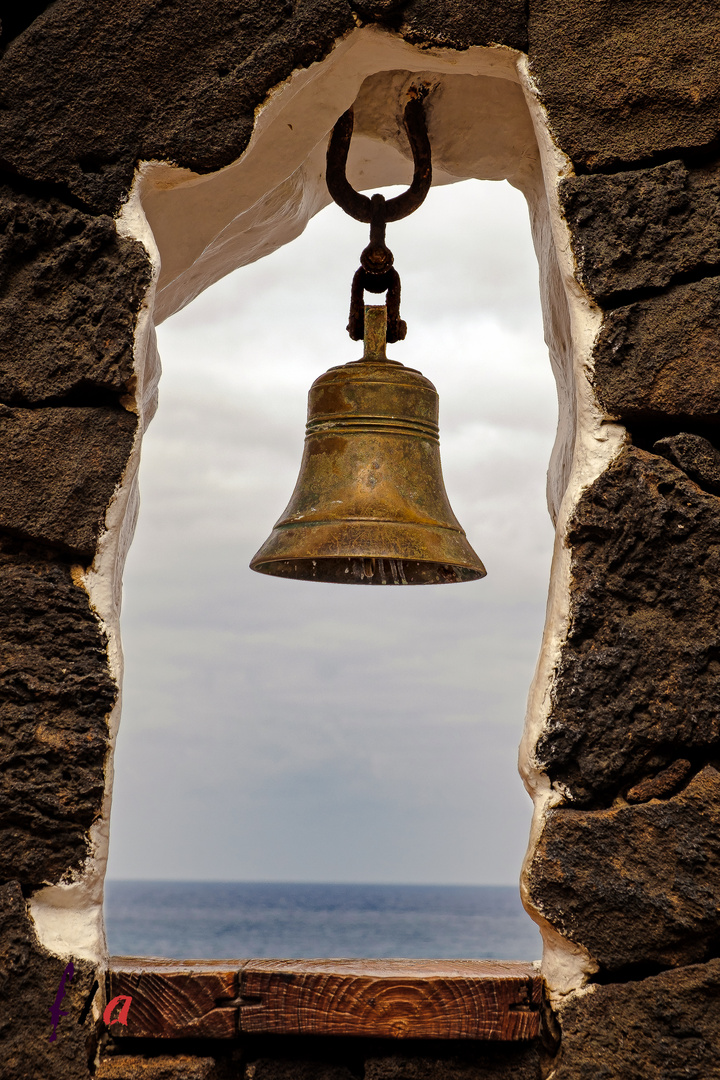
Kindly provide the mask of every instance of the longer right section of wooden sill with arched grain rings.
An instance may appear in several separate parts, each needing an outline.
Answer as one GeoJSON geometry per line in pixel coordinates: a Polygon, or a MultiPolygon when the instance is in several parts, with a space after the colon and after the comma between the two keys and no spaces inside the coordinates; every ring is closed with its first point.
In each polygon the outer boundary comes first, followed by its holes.
{"type": "Polygon", "coordinates": [[[248,960],[240,1029],[394,1039],[532,1039],[542,978],[492,960],[248,960]]]}

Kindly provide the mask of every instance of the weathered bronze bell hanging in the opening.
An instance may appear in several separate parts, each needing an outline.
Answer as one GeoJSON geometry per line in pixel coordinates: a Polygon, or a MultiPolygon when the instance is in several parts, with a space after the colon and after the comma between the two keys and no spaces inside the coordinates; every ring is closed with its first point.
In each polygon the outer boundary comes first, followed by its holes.
{"type": "Polygon", "coordinates": [[[445,491],[437,391],[388,360],[385,327],[384,306],[366,307],[363,359],[312,384],[300,475],[252,569],[361,585],[485,577],[445,491]]]}

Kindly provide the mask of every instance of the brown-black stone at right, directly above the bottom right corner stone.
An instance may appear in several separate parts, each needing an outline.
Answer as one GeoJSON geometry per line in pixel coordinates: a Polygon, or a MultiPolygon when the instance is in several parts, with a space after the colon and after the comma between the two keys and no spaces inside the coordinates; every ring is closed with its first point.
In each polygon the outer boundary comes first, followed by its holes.
{"type": "Polygon", "coordinates": [[[549,810],[528,881],[606,971],[705,959],[720,945],[720,773],[706,766],[663,801],[549,810]]]}

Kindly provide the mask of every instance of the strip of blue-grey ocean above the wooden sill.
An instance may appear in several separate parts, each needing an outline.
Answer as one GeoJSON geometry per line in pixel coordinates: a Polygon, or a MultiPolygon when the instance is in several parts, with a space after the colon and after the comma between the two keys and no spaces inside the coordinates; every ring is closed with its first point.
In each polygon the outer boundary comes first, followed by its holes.
{"type": "Polygon", "coordinates": [[[110,953],[175,959],[540,959],[504,886],[108,881],[110,953]]]}

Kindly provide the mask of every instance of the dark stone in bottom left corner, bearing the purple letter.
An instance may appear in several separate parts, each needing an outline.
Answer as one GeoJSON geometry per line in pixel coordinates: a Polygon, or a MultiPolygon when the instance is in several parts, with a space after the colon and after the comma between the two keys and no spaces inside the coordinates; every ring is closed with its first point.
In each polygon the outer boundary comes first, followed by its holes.
{"type": "Polygon", "coordinates": [[[0,886],[0,1076],[2,1080],[87,1080],[96,1039],[92,1021],[78,1023],[95,972],[73,960],[57,1038],[50,1009],[67,959],[40,945],[17,881],[0,886]]]}

